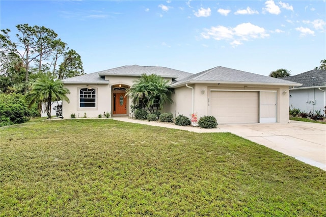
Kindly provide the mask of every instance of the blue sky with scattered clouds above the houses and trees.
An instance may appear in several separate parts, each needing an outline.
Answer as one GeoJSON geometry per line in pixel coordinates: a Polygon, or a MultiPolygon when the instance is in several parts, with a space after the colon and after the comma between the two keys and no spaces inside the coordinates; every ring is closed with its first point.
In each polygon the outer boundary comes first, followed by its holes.
{"type": "Polygon", "coordinates": [[[1,1],[1,29],[44,25],[86,73],[124,65],[296,75],[326,59],[325,1],[1,1]]]}

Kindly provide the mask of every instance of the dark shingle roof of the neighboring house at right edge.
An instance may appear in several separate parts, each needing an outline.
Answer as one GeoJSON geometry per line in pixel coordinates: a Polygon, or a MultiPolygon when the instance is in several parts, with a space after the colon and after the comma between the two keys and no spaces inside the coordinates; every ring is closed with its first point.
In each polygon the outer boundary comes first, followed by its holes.
{"type": "Polygon", "coordinates": [[[301,74],[282,77],[282,79],[303,84],[297,88],[326,86],[326,70],[314,69],[301,74]]]}

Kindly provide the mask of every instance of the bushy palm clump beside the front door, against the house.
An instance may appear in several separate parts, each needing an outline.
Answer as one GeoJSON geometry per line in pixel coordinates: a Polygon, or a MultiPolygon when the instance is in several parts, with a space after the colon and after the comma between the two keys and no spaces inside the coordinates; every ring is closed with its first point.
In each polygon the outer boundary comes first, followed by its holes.
{"type": "Polygon", "coordinates": [[[164,103],[172,103],[169,81],[156,74],[142,74],[134,84],[127,89],[126,95],[132,98],[134,104],[142,103],[150,113],[154,112],[154,103],[158,100],[156,111],[163,108],[164,103]]]}

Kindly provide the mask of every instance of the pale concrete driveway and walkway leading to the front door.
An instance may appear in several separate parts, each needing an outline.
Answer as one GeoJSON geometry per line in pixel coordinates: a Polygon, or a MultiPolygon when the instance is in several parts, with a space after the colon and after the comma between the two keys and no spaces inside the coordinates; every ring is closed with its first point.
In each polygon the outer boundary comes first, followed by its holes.
{"type": "Polygon", "coordinates": [[[271,124],[223,124],[218,125],[218,128],[215,129],[202,129],[199,127],[141,121],[127,117],[113,118],[117,121],[198,133],[231,132],[326,171],[326,124],[290,121],[290,123],[271,124]]]}

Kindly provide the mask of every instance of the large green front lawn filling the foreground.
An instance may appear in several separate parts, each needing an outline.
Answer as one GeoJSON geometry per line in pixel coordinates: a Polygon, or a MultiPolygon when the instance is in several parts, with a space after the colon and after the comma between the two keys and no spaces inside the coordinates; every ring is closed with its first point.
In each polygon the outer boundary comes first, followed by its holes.
{"type": "Polygon", "coordinates": [[[108,119],[0,128],[1,216],[325,216],[326,173],[231,133],[108,119]]]}

